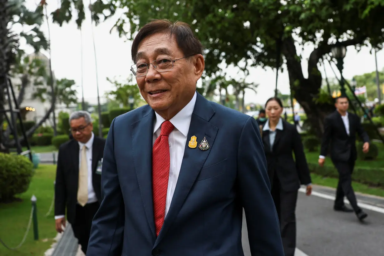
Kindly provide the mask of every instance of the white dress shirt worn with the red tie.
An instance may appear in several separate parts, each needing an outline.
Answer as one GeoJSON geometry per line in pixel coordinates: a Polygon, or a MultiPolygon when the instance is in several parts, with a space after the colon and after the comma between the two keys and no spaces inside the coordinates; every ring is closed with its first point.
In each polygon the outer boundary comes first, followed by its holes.
{"type": "MultiPolygon", "coordinates": [[[[172,130],[168,137],[170,165],[165,216],[167,216],[169,206],[175,192],[177,179],[179,178],[181,163],[184,157],[185,144],[187,143],[189,125],[192,118],[192,112],[195,108],[196,97],[197,95],[195,92],[191,101],[182,110],[180,110],[179,113],[169,120],[175,129],[172,130]]],[[[156,112],[155,114],[156,122],[153,127],[153,144],[160,135],[161,124],[166,121],[156,112]]]]}

